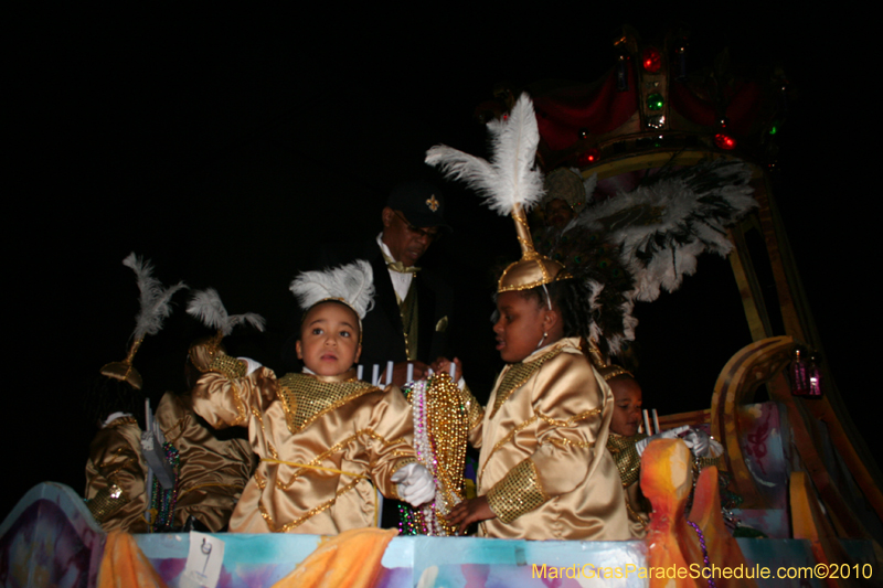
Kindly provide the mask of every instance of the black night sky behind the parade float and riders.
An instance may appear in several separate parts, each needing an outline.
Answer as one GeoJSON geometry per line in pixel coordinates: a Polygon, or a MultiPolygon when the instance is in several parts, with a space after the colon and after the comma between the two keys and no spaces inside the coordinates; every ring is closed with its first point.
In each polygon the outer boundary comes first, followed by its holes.
{"type": "MultiPolygon", "coordinates": [[[[624,23],[651,38],[685,21],[696,66],[727,45],[736,62],[784,64],[799,100],[781,132],[775,194],[827,359],[870,431],[858,399],[871,386],[879,348],[868,331],[879,321],[853,300],[872,298],[866,265],[879,254],[876,153],[865,139],[876,126],[875,90],[870,41],[854,15],[798,23],[769,9],[518,18],[474,7],[432,19],[376,8],[297,19],[156,10],[10,19],[6,299],[14,376],[3,437],[12,481],[0,514],[42,480],[82,491],[94,431],[77,414],[79,396],[102,364],[125,356],[137,312],[134,275],[120,264],[129,252],[152,259],[167,284],[213,286],[231,312],[265,314],[266,336],[231,345],[275,366],[294,310],[287,284],[317,243],[376,234],[385,193],[427,173],[428,147],[482,153],[485,131],[471,115],[496,83],[602,76],[624,23]]],[[[499,367],[486,270],[517,246],[510,221],[457,185],[447,193],[456,233],[424,265],[450,276],[467,319],[460,355],[483,382],[499,367]]],[[[728,264],[706,257],[682,292],[638,309],[638,339],[663,374],[642,376],[647,405],[710,405],[717,372],[747,343],[734,288],[728,264]]],[[[136,360],[155,403],[181,385],[185,344],[201,334],[178,300],[136,360]]]]}

